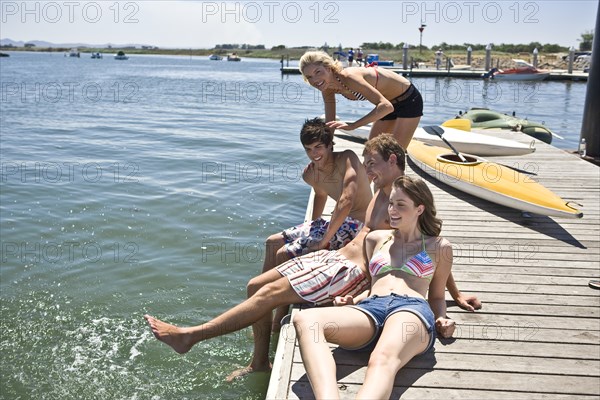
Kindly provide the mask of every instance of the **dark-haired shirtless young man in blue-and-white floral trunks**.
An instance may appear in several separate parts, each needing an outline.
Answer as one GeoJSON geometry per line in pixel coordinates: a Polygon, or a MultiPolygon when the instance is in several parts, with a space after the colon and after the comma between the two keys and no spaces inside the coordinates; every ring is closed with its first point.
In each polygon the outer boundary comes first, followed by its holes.
{"type": "MultiPolygon", "coordinates": [[[[300,130],[300,141],[310,159],[302,179],[314,191],[311,221],[269,236],[262,272],[313,251],[344,247],[362,229],[373,197],[358,156],[351,150],[333,151],[333,130],[322,119],[307,120],[300,130]],[[336,204],[331,218],[326,221],[322,215],[328,197],[336,204]]],[[[248,297],[252,294],[250,290],[248,297]]],[[[273,331],[280,329],[280,321],[288,310],[286,306],[277,309],[273,331]]]]}

